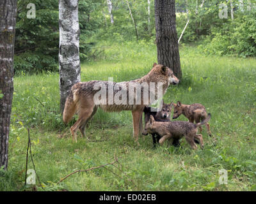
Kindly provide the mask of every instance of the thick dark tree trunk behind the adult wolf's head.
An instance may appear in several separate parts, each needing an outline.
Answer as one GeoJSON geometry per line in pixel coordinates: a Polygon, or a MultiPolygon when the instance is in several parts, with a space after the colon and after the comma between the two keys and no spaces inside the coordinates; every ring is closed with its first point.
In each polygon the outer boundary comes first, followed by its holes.
{"type": "Polygon", "coordinates": [[[155,0],[157,61],[173,69],[180,80],[180,55],[176,31],[175,0],[155,0]]]}

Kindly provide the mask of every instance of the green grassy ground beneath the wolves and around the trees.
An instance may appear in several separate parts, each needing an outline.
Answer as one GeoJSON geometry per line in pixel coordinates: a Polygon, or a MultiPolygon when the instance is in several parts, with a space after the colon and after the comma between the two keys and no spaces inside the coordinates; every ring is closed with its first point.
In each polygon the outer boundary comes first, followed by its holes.
{"type": "MultiPolygon", "coordinates": [[[[156,47],[145,42],[105,49],[98,61],[81,65],[82,81],[140,78],[157,61],[156,47]]],[[[164,101],[207,107],[214,138],[204,128],[204,150],[191,150],[184,139],[180,149],[166,144],[152,149],[150,136],[141,136],[138,147],[131,112],[101,110],[86,130],[90,141],[78,133],[78,142],[72,143],[69,128],[75,120],[66,127],[58,113],[58,74],[22,75],[14,78],[9,166],[7,173],[0,171],[0,190],[35,189],[24,187],[30,128],[36,171],[46,190],[255,191],[256,60],[207,57],[191,47],[180,48],[180,59],[183,82],[170,85],[164,101]],[[111,163],[115,156],[116,166],[75,173],[56,184],[72,171],[111,163]],[[219,184],[221,169],[228,171],[227,185],[219,184]]]]}

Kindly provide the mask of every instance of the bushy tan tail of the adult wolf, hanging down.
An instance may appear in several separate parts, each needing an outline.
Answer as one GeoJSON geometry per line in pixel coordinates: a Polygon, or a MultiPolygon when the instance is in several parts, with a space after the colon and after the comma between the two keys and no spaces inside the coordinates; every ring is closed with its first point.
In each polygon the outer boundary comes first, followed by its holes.
{"type": "Polygon", "coordinates": [[[66,99],[65,108],[63,110],[63,122],[67,124],[76,113],[76,102],[74,101],[74,94],[72,89],[66,99]]]}

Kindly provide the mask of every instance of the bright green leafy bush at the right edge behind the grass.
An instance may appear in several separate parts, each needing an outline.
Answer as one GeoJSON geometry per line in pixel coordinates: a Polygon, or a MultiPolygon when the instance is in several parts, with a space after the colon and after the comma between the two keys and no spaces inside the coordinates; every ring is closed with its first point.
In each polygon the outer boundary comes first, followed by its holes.
{"type": "Polygon", "coordinates": [[[256,57],[256,11],[229,20],[222,29],[212,28],[200,49],[210,55],[256,57]]]}

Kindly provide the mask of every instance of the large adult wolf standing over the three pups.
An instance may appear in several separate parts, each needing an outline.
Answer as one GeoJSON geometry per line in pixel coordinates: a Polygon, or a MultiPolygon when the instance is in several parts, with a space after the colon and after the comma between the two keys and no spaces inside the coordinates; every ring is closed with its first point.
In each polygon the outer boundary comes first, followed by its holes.
{"type": "MultiPolygon", "coordinates": [[[[70,93],[65,102],[63,111],[63,122],[67,124],[74,113],[78,113],[78,119],[70,128],[73,141],[77,142],[76,131],[79,128],[81,134],[85,136],[84,129],[88,120],[97,112],[100,107],[107,112],[120,112],[122,110],[130,110],[133,119],[133,137],[138,143],[139,133],[143,130],[142,113],[146,105],[150,104],[150,99],[143,98],[144,92],[152,92],[152,89],[136,90],[136,87],[143,87],[150,83],[161,83],[164,95],[170,84],[179,84],[179,79],[173,75],[172,69],[161,64],[154,63],[153,68],[144,77],[129,82],[108,82],[108,81],[90,81],[79,82],[71,87],[70,93]],[[101,88],[101,89],[99,89],[101,88]],[[108,97],[106,97],[106,91],[108,97]],[[102,94],[99,94],[102,92],[102,94]],[[110,94],[109,94],[110,93],[110,94]],[[121,102],[120,102],[120,98],[121,102]],[[117,101],[117,102],[116,102],[117,101]],[[131,103],[132,102],[132,103],[131,103]]],[[[158,86],[156,85],[156,93],[158,86]]],[[[148,93],[149,92],[149,93],[148,93]]],[[[162,96],[163,96],[162,95],[162,96]]],[[[155,94],[157,98],[157,94],[155,94]]],[[[139,143],[138,143],[139,145],[139,143]]]]}

